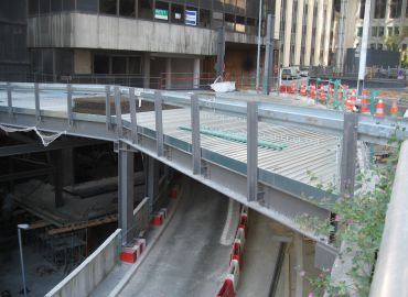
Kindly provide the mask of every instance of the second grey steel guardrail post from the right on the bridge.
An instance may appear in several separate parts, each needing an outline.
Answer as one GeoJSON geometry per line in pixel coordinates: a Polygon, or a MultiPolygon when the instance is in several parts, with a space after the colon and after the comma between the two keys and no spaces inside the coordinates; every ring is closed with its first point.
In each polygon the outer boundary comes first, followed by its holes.
{"type": "Polygon", "coordinates": [[[247,102],[247,195],[258,199],[258,103],[247,102]]]}

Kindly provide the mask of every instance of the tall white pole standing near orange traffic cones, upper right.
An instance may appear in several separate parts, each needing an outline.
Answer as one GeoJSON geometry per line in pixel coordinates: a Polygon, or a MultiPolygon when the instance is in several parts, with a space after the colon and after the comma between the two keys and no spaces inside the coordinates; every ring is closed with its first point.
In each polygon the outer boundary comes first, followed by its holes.
{"type": "Polygon", "coordinates": [[[365,0],[364,23],[363,23],[363,37],[359,52],[359,66],[358,66],[358,81],[357,94],[362,95],[364,89],[364,77],[367,62],[367,47],[368,47],[368,31],[369,31],[369,12],[372,9],[372,0],[365,0]]]}

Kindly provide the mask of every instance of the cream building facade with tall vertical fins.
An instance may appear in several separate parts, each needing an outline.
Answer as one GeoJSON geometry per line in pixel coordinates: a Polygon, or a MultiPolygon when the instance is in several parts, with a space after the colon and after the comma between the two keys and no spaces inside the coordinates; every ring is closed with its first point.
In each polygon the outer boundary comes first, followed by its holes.
{"type": "Polygon", "coordinates": [[[275,1],[275,38],[283,66],[328,66],[331,55],[334,0],[275,1]]]}

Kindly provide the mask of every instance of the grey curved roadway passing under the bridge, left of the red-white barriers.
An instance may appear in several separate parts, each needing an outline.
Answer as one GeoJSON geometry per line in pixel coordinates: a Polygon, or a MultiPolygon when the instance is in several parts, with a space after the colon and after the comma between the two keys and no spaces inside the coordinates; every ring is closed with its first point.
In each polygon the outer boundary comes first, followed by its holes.
{"type": "Polygon", "coordinates": [[[230,253],[219,243],[228,199],[186,184],[173,218],[120,296],[216,296],[230,253]]]}

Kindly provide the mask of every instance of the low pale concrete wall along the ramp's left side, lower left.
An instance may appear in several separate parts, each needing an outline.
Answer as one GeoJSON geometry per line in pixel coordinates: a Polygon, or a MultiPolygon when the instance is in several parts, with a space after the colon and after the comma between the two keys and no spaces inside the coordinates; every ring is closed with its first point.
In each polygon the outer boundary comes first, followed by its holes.
{"type": "Polygon", "coordinates": [[[88,296],[119,260],[121,230],[116,230],[90,256],[45,296],[88,296]]]}

